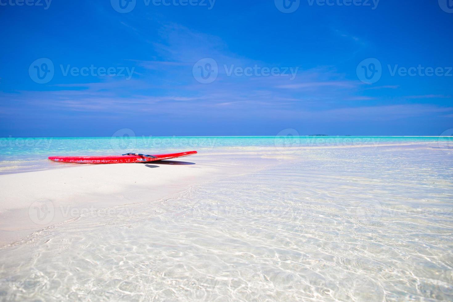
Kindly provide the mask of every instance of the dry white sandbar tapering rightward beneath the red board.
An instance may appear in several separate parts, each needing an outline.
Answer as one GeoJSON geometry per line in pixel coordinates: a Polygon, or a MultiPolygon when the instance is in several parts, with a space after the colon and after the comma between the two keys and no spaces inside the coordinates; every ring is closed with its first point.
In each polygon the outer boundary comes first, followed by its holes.
{"type": "Polygon", "coordinates": [[[0,246],[80,215],[169,198],[221,175],[254,171],[270,162],[257,162],[260,156],[220,153],[145,164],[57,163],[58,168],[50,163],[49,170],[0,175],[0,246]]]}

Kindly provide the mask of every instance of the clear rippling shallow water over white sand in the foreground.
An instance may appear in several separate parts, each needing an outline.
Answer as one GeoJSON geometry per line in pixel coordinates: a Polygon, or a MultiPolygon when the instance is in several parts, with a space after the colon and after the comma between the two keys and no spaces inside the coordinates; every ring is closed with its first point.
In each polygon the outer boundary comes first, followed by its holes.
{"type": "Polygon", "coordinates": [[[1,249],[0,298],[453,301],[453,152],[436,146],[291,149],[81,216],[1,249]]]}

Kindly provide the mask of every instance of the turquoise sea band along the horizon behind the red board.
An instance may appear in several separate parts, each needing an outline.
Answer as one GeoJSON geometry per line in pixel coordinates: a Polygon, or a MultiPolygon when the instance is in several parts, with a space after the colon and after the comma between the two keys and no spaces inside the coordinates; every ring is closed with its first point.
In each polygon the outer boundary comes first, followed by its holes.
{"type": "Polygon", "coordinates": [[[278,136],[130,136],[130,129],[118,130],[111,137],[44,137],[0,138],[0,173],[36,171],[61,167],[47,160],[50,155],[116,155],[128,152],[169,153],[197,150],[273,148],[277,153],[291,153],[294,148],[377,148],[387,144],[433,144],[453,149],[451,136],[299,136],[294,129],[282,130],[278,136]]]}

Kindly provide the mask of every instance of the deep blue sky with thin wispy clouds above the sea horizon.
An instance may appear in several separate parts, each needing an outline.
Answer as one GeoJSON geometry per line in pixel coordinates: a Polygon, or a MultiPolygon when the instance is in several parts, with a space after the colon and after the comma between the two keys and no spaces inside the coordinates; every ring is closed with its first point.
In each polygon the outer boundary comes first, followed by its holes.
{"type": "Polygon", "coordinates": [[[453,128],[451,0],[28,1],[0,0],[3,137],[453,128]]]}

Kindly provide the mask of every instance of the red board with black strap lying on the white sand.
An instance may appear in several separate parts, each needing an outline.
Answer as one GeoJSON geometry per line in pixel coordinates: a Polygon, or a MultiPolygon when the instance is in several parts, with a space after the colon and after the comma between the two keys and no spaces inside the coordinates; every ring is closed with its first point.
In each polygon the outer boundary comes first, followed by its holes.
{"type": "Polygon", "coordinates": [[[49,156],[48,159],[59,163],[145,163],[154,162],[156,160],[189,156],[192,154],[197,154],[197,151],[156,155],[126,153],[123,155],[107,156],[49,156]]]}

